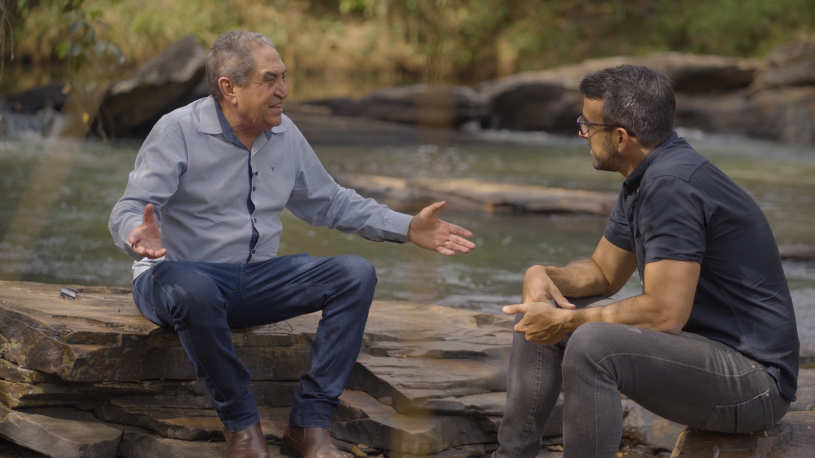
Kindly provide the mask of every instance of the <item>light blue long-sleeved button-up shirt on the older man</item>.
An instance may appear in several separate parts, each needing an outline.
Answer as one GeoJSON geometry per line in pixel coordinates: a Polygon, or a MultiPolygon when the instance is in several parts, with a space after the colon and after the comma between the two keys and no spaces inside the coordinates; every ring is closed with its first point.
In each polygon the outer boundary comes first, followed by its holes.
{"type": "Polygon", "coordinates": [[[153,127],[109,228],[114,243],[136,260],[135,278],[161,259],[275,258],[284,208],[314,226],[374,241],[407,241],[412,218],[337,184],[285,115],[280,126],[254,139],[249,152],[236,141],[215,99],[207,97],[170,112],[153,127]],[[150,203],[167,249],[160,259],[142,258],[127,240],[150,203]]]}

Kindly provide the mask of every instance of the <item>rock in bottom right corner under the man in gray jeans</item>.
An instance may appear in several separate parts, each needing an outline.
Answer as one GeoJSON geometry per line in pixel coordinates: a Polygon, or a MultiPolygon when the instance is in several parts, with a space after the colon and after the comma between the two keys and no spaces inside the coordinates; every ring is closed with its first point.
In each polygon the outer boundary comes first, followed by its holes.
{"type": "Polygon", "coordinates": [[[751,434],[688,428],[680,434],[672,458],[809,458],[815,456],[815,412],[789,412],[778,425],[751,434]]]}

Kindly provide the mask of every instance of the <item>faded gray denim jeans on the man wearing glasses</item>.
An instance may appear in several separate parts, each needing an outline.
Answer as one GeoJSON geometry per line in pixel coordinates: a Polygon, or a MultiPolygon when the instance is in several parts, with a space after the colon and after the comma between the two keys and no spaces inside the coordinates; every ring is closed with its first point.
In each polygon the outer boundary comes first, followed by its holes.
{"type": "MultiPolygon", "coordinates": [[[[614,301],[571,302],[580,307],[614,301]]],[[[759,363],[697,334],[588,323],[556,345],[540,346],[516,333],[493,458],[538,455],[561,389],[566,458],[616,456],[623,434],[621,393],[667,420],[728,433],[769,428],[789,407],[759,363]]]]}

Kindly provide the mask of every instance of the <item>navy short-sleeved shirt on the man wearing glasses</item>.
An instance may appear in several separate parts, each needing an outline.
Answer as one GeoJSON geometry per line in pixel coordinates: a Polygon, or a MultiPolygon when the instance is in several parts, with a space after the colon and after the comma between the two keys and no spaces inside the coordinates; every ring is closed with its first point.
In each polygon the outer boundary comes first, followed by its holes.
{"type": "Polygon", "coordinates": [[[606,239],[645,264],[701,265],[685,332],[760,363],[795,400],[799,341],[778,246],[756,201],[676,133],[623,182],[606,239]]]}

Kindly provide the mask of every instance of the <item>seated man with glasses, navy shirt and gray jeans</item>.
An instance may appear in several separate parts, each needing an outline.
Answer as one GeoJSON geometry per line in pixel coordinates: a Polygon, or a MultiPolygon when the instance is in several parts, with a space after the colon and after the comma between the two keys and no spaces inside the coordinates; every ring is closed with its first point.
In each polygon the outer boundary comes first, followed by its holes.
{"type": "Polygon", "coordinates": [[[532,266],[504,307],[518,333],[494,456],[537,455],[561,389],[566,457],[616,456],[620,394],[682,425],[768,428],[795,400],[799,342],[767,219],[676,135],[667,77],[623,65],[579,90],[594,168],[625,180],[592,258],[532,266]],[[640,295],[597,302],[635,270],[640,295]]]}

